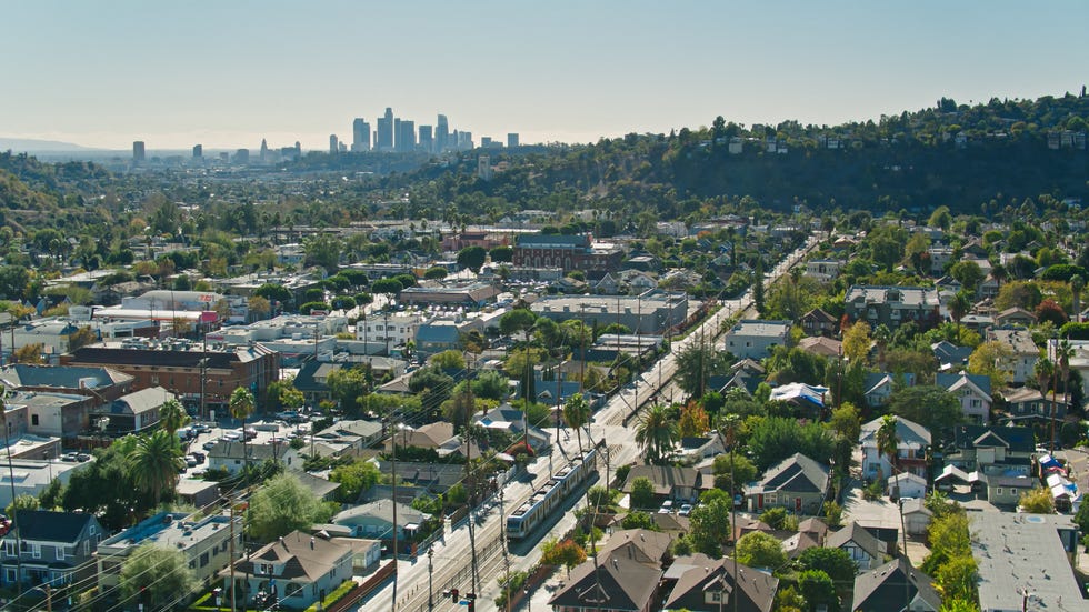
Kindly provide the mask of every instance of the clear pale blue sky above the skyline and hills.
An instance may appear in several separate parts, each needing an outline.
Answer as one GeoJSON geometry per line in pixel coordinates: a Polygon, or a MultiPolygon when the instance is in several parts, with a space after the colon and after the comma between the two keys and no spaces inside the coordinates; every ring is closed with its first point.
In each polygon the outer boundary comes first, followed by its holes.
{"type": "Polygon", "coordinates": [[[386,107],[522,142],[839,123],[1089,81],[1089,2],[6,2],[0,136],[324,149],[386,107]]]}

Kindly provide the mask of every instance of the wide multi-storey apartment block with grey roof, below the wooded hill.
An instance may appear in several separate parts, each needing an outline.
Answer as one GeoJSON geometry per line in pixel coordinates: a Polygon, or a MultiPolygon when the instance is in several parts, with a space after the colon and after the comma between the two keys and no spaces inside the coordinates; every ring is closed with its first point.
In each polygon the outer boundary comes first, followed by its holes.
{"type": "Polygon", "coordinates": [[[871,328],[886,324],[896,330],[906,321],[929,329],[940,321],[938,290],[923,287],[853,284],[843,305],[851,321],[866,321],[871,328]]]}

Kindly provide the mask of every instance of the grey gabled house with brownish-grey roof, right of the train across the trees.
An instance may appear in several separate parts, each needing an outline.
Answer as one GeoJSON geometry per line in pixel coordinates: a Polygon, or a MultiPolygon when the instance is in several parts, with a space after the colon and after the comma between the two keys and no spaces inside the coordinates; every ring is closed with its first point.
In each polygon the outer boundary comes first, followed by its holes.
{"type": "Polygon", "coordinates": [[[827,465],[795,453],[746,486],[745,496],[749,512],[782,506],[798,514],[817,514],[828,496],[828,484],[827,465]]]}

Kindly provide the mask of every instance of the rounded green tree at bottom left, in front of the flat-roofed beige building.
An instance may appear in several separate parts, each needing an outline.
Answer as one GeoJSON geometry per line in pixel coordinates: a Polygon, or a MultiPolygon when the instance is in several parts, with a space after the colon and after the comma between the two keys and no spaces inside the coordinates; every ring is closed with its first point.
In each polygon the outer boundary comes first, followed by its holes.
{"type": "Polygon", "coordinates": [[[121,563],[121,596],[146,610],[173,610],[198,586],[186,555],[147,542],[121,563]]]}

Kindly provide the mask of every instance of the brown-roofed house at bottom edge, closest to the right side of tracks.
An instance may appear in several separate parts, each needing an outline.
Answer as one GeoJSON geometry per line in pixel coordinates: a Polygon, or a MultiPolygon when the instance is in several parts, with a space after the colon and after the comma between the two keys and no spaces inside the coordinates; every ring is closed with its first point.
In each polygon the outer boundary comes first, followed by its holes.
{"type": "Polygon", "coordinates": [[[556,612],[651,612],[658,603],[661,565],[642,563],[623,551],[599,554],[571,570],[548,604],[556,612]]]}

